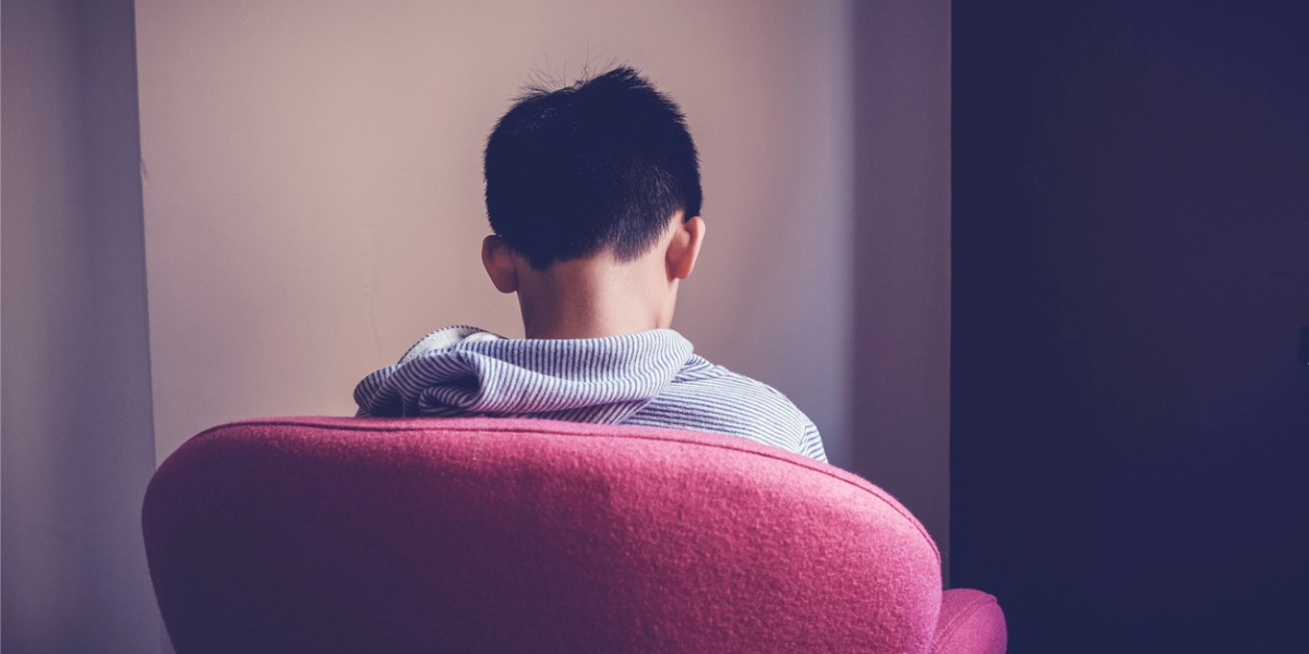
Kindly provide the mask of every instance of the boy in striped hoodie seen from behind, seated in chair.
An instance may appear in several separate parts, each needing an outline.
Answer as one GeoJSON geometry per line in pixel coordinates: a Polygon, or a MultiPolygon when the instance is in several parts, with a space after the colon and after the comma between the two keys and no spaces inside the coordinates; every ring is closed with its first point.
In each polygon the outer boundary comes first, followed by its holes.
{"type": "Polygon", "coordinates": [[[359,383],[359,416],[530,416],[740,436],[827,460],[784,395],[709,364],[669,330],[704,241],[681,110],[631,68],[500,119],[484,156],[482,263],[517,293],[526,339],[427,335],[359,383]]]}

